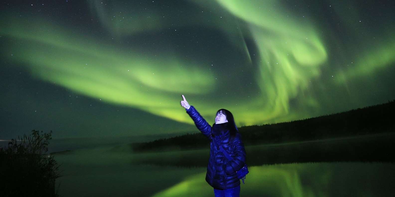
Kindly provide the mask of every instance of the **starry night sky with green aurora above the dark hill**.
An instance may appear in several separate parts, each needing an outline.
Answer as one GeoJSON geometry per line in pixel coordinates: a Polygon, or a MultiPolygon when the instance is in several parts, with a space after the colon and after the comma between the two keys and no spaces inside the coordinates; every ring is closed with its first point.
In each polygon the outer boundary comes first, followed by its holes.
{"type": "Polygon", "coordinates": [[[395,99],[393,1],[56,0],[0,4],[0,139],[198,132],[395,99]]]}

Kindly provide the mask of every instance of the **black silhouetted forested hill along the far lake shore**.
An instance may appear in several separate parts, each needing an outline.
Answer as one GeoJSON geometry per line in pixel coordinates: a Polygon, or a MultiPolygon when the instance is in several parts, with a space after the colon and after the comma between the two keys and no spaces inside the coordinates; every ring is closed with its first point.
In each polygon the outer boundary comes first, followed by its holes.
{"type": "MultiPolygon", "coordinates": [[[[309,119],[242,126],[239,132],[245,146],[390,133],[395,131],[394,111],[395,100],[309,119]]],[[[131,148],[135,152],[202,149],[209,148],[209,139],[198,132],[133,143],[131,148]]]]}

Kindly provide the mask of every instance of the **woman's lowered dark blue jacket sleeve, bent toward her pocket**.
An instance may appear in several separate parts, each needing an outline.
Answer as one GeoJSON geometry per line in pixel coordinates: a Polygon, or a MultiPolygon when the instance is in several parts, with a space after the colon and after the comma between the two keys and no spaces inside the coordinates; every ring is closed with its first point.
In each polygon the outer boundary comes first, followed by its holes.
{"type": "Polygon", "coordinates": [[[223,166],[225,173],[228,175],[240,170],[244,166],[246,161],[246,151],[239,135],[240,134],[238,134],[238,136],[236,136],[235,138],[235,150],[233,151],[233,155],[231,156],[232,160],[226,162],[223,166]]]}

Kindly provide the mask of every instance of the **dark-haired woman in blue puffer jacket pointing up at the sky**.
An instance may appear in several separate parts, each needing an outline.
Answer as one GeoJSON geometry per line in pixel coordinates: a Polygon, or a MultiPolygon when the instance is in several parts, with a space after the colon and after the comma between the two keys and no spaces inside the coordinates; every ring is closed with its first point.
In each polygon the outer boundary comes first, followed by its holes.
{"type": "Polygon", "coordinates": [[[182,95],[181,106],[194,120],[196,127],[210,139],[210,158],[207,165],[206,181],[214,188],[216,197],[238,197],[240,180],[236,171],[246,160],[246,153],[232,113],[220,109],[216,113],[215,123],[210,126],[199,112],[190,106],[182,95]],[[220,146],[231,156],[228,160],[220,146]]]}

